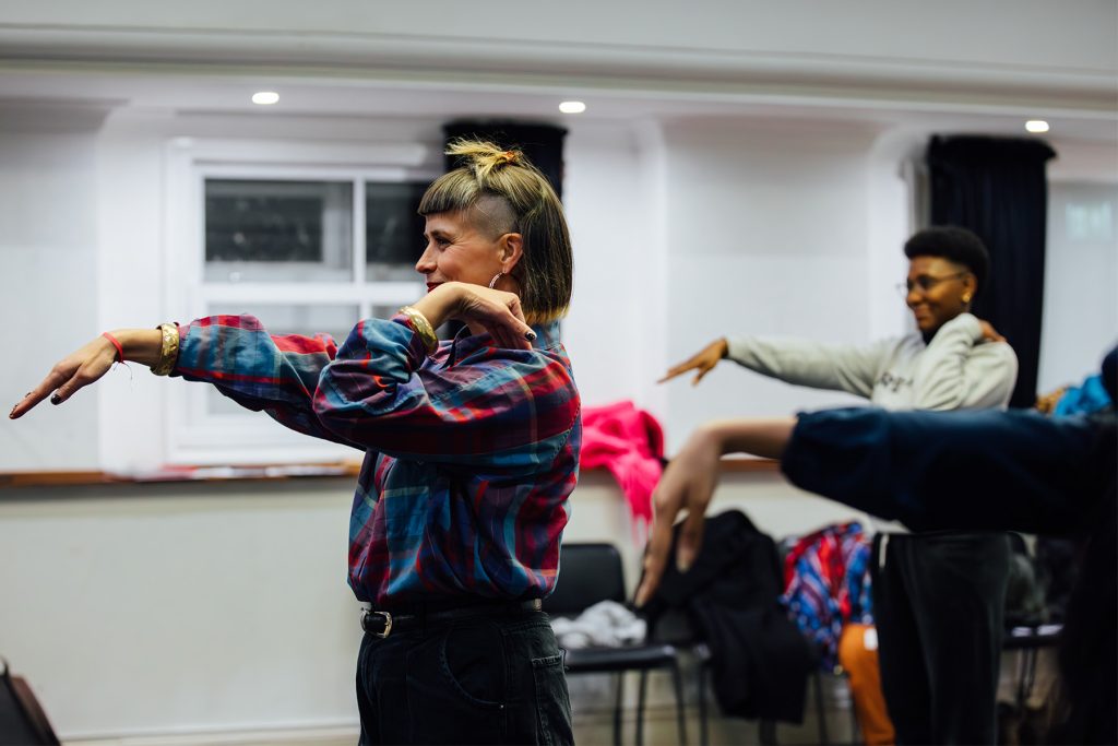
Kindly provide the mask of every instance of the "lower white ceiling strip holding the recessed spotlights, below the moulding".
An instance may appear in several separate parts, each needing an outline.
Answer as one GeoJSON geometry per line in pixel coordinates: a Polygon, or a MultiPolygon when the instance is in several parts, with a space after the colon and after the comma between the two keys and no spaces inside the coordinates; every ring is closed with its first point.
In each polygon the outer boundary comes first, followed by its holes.
{"type": "Polygon", "coordinates": [[[1068,108],[1043,102],[987,103],[982,100],[913,94],[906,98],[849,95],[825,87],[806,92],[770,86],[693,86],[680,89],[604,89],[588,85],[522,82],[367,78],[337,74],[222,72],[157,66],[112,69],[103,65],[0,66],[0,110],[32,104],[87,104],[96,107],[224,113],[259,116],[434,117],[515,116],[557,123],[681,117],[748,116],[827,121],[879,126],[1023,134],[1027,119],[1044,119],[1052,136],[1114,142],[1118,114],[1068,108]],[[281,94],[274,106],[250,102],[256,91],[281,94]],[[563,115],[560,101],[577,98],[587,111],[563,115]]]}

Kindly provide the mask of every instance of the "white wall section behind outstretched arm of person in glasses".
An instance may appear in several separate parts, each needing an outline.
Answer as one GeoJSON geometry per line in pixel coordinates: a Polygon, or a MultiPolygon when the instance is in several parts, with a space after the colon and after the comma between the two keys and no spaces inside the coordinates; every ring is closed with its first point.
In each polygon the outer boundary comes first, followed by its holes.
{"type": "MultiPolygon", "coordinates": [[[[824,123],[667,128],[665,346],[681,361],[724,334],[870,341],[869,152],[875,133],[824,123]]],[[[673,446],[712,417],[851,402],[720,365],[670,386],[673,446]]]]}

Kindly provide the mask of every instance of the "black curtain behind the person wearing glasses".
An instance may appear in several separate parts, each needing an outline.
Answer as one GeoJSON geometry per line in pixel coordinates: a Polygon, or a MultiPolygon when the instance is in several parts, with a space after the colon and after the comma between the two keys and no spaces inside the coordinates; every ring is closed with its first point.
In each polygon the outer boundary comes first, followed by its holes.
{"type": "Polygon", "coordinates": [[[991,273],[974,313],[1005,336],[1017,353],[1011,407],[1036,402],[1044,243],[1045,163],[1055,151],[1023,138],[935,136],[928,144],[932,225],[974,230],[989,249],[991,273]]]}

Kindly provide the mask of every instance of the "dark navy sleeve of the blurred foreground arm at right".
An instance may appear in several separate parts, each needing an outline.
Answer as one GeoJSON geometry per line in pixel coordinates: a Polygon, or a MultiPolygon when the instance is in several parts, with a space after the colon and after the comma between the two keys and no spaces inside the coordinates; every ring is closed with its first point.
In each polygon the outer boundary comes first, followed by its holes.
{"type": "Polygon", "coordinates": [[[1115,479],[1115,419],[1032,412],[802,414],[797,487],[915,530],[1074,530],[1115,479]]]}

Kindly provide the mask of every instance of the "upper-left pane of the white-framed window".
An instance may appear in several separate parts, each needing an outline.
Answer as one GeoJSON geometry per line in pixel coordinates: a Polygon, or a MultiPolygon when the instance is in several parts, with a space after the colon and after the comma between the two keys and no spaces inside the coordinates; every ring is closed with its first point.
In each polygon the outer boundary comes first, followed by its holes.
{"type": "Polygon", "coordinates": [[[207,282],[353,278],[353,187],[206,180],[207,282]]]}

